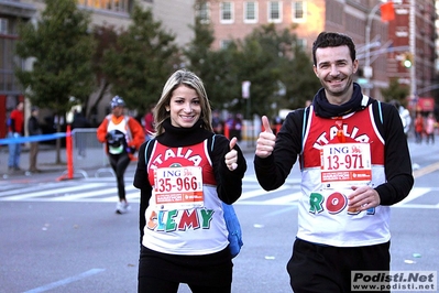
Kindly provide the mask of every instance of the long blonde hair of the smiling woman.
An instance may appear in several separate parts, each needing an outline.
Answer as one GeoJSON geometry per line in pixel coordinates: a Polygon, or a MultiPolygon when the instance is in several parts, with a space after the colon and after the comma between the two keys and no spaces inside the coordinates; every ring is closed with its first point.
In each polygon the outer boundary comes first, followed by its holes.
{"type": "Polygon", "coordinates": [[[179,85],[188,86],[197,91],[201,107],[201,127],[213,132],[213,128],[211,126],[212,111],[202,80],[196,74],[189,70],[178,69],[167,79],[165,86],[163,87],[162,96],[154,108],[155,135],[160,135],[165,132],[163,122],[171,116],[169,112],[166,111],[166,106],[169,106],[171,97],[179,85]]]}

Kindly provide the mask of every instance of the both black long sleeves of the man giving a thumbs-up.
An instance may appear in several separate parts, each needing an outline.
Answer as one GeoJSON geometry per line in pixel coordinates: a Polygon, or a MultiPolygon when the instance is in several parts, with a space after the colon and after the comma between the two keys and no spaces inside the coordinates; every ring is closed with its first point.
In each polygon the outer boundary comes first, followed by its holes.
{"type": "MultiPolygon", "coordinates": [[[[381,205],[389,206],[403,200],[410,192],[414,177],[411,160],[404,134],[400,117],[389,104],[372,101],[376,127],[385,140],[384,170],[386,182],[376,186],[381,205]],[[382,115],[381,115],[382,113],[382,115]]],[[[254,167],[260,185],[276,189],[285,183],[301,151],[301,133],[305,109],[290,112],[276,135],[273,153],[265,158],[254,158],[254,167]]]]}

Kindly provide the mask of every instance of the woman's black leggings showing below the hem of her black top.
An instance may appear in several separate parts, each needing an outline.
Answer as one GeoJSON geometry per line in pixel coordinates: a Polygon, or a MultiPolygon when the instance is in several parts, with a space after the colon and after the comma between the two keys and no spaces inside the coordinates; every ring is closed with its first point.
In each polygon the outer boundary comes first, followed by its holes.
{"type": "MultiPolygon", "coordinates": [[[[138,293],[177,293],[178,282],[171,282],[152,276],[139,278],[138,293]]],[[[193,293],[230,293],[231,284],[223,286],[201,286],[188,284],[193,293]]]]}

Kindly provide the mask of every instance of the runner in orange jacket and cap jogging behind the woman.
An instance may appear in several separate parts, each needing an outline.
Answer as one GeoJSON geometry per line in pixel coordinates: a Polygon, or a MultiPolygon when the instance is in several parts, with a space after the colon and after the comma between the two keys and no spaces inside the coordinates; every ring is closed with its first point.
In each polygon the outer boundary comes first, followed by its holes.
{"type": "Polygon", "coordinates": [[[113,97],[112,113],[103,119],[96,133],[98,141],[107,145],[108,159],[117,177],[119,196],[117,214],[124,214],[130,209],[123,175],[136,150],[145,140],[143,128],[138,120],[123,115],[124,107],[125,102],[121,97],[113,97]]]}

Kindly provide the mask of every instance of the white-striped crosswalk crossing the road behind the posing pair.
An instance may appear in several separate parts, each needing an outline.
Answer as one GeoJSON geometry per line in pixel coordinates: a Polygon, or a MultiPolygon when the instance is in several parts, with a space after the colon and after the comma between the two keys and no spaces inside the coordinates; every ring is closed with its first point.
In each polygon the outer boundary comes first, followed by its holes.
{"type": "MultiPolygon", "coordinates": [[[[131,204],[140,203],[140,191],[125,181],[127,199],[131,204]]],[[[301,193],[297,180],[287,182],[275,191],[266,192],[257,184],[254,176],[244,181],[244,192],[235,203],[237,205],[266,205],[266,206],[297,206],[301,193]],[[253,183],[253,184],[252,184],[253,183]]],[[[86,178],[74,186],[63,187],[59,183],[41,184],[34,187],[14,188],[0,192],[0,202],[56,202],[56,203],[117,203],[117,186],[114,178],[86,178]],[[56,188],[59,186],[58,188],[56,188]]],[[[17,187],[17,186],[15,186],[17,187]]],[[[410,194],[394,207],[404,208],[439,208],[439,203],[411,204],[413,200],[426,194],[435,195],[437,187],[414,187],[410,194]]],[[[438,200],[439,202],[439,200],[438,200]]]]}

